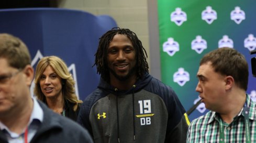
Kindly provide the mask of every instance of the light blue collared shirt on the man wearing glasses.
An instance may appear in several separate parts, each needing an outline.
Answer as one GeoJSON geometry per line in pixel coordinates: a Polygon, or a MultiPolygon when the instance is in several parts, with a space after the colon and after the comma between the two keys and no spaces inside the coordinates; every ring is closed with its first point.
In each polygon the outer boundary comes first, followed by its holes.
{"type": "MultiPolygon", "coordinates": [[[[34,98],[32,98],[32,100],[34,100],[34,106],[33,106],[33,110],[29,119],[29,123],[28,123],[28,142],[30,142],[30,140],[34,137],[34,135],[37,132],[38,127],[41,125],[42,121],[43,121],[43,111],[42,108],[40,107],[38,101],[34,98]]],[[[24,142],[24,135],[25,135],[25,130],[24,132],[21,134],[17,134],[14,132],[11,132],[7,126],[5,126],[2,122],[0,122],[0,129],[3,131],[3,133],[6,135],[8,142],[12,143],[12,142],[24,142]]]]}

